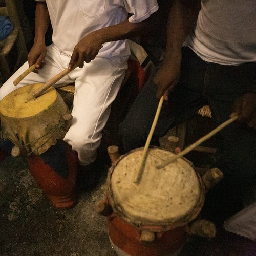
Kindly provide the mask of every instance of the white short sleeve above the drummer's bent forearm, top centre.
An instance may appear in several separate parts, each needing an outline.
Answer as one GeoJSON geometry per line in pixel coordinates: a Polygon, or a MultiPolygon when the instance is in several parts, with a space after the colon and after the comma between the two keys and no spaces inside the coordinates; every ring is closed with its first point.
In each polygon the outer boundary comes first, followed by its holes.
{"type": "Polygon", "coordinates": [[[159,8],[157,0],[124,0],[124,6],[132,14],[129,17],[131,23],[142,22],[159,8]]]}

